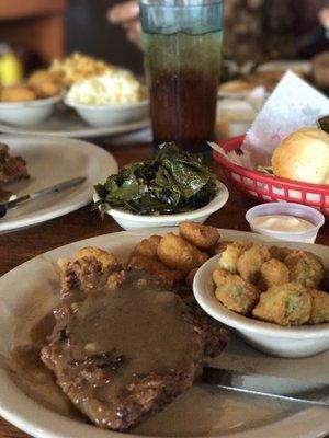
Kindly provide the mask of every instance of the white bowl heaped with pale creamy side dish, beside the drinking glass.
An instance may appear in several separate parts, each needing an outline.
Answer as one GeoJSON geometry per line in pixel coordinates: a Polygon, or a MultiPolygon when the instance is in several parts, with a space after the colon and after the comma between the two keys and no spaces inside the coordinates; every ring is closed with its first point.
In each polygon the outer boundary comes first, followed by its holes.
{"type": "Polygon", "coordinates": [[[123,69],[75,83],[64,102],[95,127],[140,120],[149,112],[146,88],[123,69]]]}

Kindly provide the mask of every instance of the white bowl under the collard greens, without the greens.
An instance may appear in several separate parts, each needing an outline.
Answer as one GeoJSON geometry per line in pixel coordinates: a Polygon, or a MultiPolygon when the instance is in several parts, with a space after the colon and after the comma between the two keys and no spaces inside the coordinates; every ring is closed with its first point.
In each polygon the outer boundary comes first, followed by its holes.
{"type": "MultiPolygon", "coordinates": [[[[133,215],[131,212],[111,208],[106,211],[107,215],[127,231],[139,230],[140,228],[157,228],[157,227],[178,227],[181,222],[193,221],[203,223],[215,211],[219,210],[227,203],[229,193],[227,187],[217,181],[218,193],[213,200],[205,207],[197,210],[175,214],[175,215],[160,215],[160,216],[144,216],[133,215]]],[[[93,195],[93,200],[99,200],[97,194],[93,195]]]]}

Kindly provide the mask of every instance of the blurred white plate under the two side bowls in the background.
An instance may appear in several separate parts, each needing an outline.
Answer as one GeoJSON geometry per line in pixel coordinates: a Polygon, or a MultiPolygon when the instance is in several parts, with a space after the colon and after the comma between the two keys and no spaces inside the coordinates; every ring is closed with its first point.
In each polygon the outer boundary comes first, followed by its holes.
{"type": "Polygon", "coordinates": [[[33,136],[55,136],[70,138],[97,138],[133,132],[150,125],[149,118],[97,128],[88,125],[78,114],[64,105],[58,105],[54,114],[45,122],[29,127],[19,127],[0,123],[0,132],[33,136]]]}

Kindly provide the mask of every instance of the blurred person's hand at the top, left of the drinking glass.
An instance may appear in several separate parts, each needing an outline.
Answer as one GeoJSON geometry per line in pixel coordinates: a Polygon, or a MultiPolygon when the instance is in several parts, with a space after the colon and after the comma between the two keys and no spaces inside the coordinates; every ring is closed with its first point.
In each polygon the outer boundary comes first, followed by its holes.
{"type": "Polygon", "coordinates": [[[113,24],[120,24],[126,31],[127,39],[141,46],[141,25],[137,0],[128,0],[116,4],[107,12],[107,19],[113,24]]]}

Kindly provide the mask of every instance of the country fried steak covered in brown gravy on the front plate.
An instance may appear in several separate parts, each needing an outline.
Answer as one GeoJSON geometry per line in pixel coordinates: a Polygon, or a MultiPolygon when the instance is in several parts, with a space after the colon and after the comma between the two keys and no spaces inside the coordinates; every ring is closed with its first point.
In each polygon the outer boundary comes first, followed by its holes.
{"type": "Polygon", "coordinates": [[[61,299],[42,360],[95,425],[127,430],[189,389],[227,333],[161,279],[104,251],[60,261],[61,299]]]}

